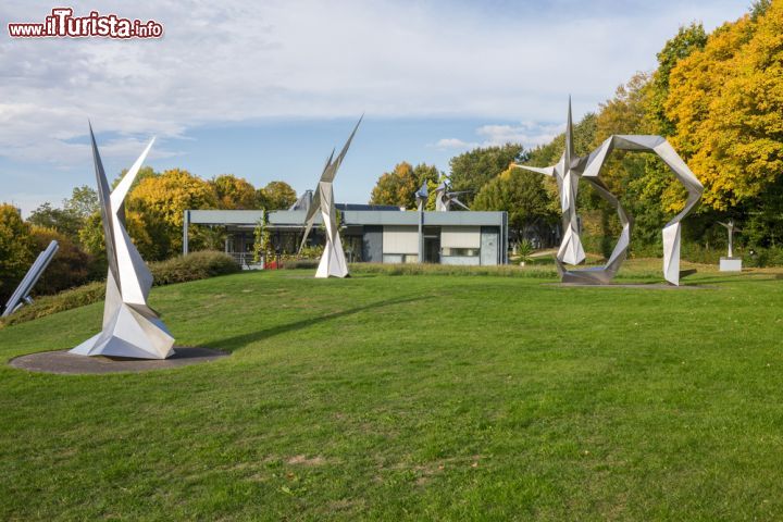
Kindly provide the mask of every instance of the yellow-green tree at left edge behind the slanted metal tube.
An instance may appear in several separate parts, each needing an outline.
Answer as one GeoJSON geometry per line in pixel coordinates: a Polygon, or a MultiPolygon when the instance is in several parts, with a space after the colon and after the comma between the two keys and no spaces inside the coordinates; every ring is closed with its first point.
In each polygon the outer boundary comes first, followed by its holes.
{"type": "Polygon", "coordinates": [[[0,204],[0,302],[11,297],[34,258],[30,225],[16,207],[0,204]]]}

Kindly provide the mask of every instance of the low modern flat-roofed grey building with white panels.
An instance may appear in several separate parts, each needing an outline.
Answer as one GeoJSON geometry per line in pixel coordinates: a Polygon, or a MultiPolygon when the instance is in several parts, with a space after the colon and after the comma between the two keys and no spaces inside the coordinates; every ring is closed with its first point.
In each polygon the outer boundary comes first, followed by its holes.
{"type": "MultiPolygon", "coordinates": [[[[279,253],[296,253],[304,233],[306,204],[269,213],[266,229],[279,253]],[[298,207],[298,208],[297,208],[298,207]]],[[[508,262],[506,212],[418,212],[396,207],[336,204],[340,213],[343,247],[349,262],[495,265],[508,262]]],[[[249,265],[253,231],[262,210],[186,210],[183,251],[188,252],[190,225],[220,226],[226,232],[225,251],[249,265]]],[[[316,219],[316,224],[321,217],[316,219]]],[[[322,245],[314,228],[308,244],[322,245]]]]}

